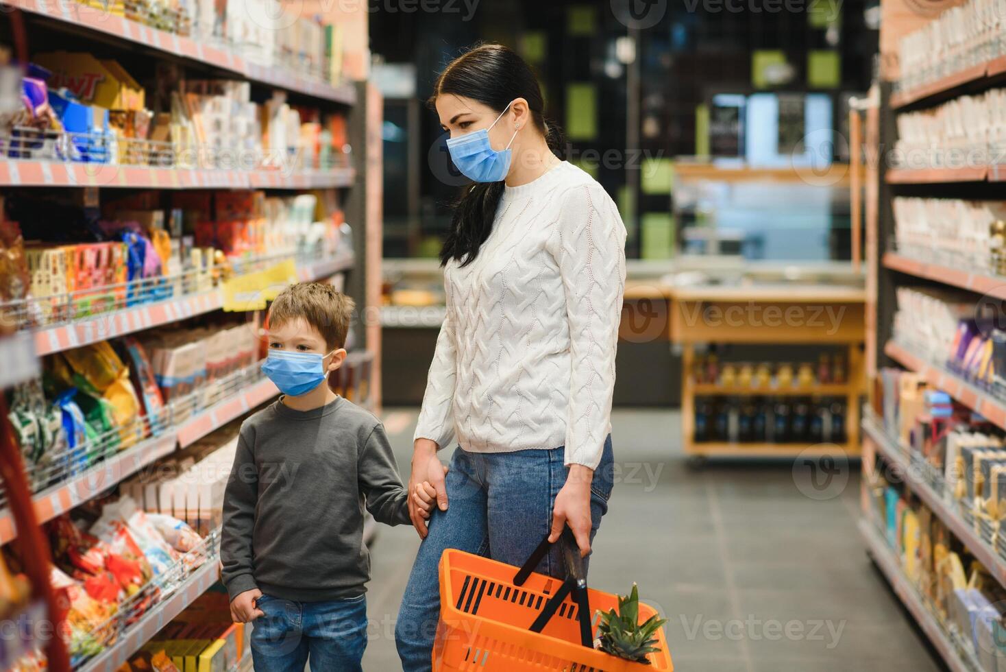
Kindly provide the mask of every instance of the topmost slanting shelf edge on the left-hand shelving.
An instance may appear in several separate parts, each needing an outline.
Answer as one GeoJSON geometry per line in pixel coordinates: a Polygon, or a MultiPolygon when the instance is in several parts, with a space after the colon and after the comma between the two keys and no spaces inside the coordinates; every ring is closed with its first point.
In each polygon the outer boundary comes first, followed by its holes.
{"type": "Polygon", "coordinates": [[[165,54],[194,60],[247,79],[342,105],[356,103],[352,85],[332,86],[282,67],[250,62],[225,45],[214,46],[176,33],[159,30],[98,7],[73,0],[3,0],[10,7],[39,14],[63,24],[95,30],[118,39],[142,44],[165,54]]]}

